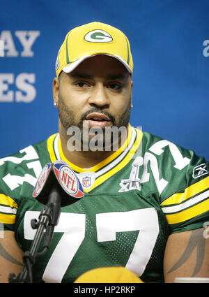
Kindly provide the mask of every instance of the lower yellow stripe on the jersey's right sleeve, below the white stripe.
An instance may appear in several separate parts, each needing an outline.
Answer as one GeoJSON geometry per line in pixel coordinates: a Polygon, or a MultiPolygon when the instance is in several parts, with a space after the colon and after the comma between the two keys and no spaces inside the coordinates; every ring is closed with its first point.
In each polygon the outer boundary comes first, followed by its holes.
{"type": "Polygon", "coordinates": [[[206,212],[208,210],[209,210],[209,199],[194,205],[192,208],[187,208],[187,210],[183,210],[181,212],[177,212],[171,215],[166,215],[166,218],[169,224],[177,224],[180,222],[184,222],[187,219],[192,219],[197,215],[201,215],[203,212],[206,212]]]}

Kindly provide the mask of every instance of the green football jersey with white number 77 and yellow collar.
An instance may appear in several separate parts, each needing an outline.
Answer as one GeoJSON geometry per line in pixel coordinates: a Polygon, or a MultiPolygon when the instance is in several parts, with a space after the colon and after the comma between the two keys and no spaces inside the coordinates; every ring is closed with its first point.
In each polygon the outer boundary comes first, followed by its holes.
{"type": "Polygon", "coordinates": [[[163,257],[171,233],[209,221],[209,164],[192,150],[130,126],[122,147],[92,168],[65,159],[59,133],[0,159],[0,222],[29,250],[42,203],[33,188],[43,166],[67,161],[84,197],[61,208],[34,282],[73,282],[98,267],[123,266],[144,282],[164,282],[163,257]]]}

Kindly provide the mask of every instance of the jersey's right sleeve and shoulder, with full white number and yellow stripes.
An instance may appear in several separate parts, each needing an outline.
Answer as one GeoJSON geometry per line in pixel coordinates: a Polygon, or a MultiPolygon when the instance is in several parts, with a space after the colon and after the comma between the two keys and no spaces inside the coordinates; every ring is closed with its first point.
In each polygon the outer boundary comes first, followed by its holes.
{"type": "MultiPolygon", "coordinates": [[[[144,132],[146,180],[170,233],[209,224],[209,162],[192,150],[144,132]],[[149,174],[149,175],[148,175],[149,174]]],[[[142,150],[143,151],[143,150],[142,150]]]]}

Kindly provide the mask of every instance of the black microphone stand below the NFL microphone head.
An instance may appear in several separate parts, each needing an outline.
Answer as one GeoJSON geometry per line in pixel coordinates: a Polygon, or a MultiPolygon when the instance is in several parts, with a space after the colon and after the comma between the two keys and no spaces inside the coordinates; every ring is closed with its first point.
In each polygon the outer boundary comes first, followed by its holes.
{"type": "Polygon", "coordinates": [[[33,273],[32,268],[33,264],[36,262],[36,256],[42,256],[47,252],[49,245],[51,243],[54,227],[59,222],[59,216],[61,213],[61,197],[56,190],[56,187],[52,189],[49,194],[49,199],[45,207],[40,212],[38,221],[36,219],[31,220],[31,227],[37,229],[35,237],[31,243],[29,251],[24,252],[23,260],[24,266],[22,272],[15,276],[14,273],[10,273],[9,282],[10,283],[32,283],[33,282],[33,273]],[[43,242],[42,252],[38,252],[40,247],[40,242],[44,235],[45,238],[43,242]]]}

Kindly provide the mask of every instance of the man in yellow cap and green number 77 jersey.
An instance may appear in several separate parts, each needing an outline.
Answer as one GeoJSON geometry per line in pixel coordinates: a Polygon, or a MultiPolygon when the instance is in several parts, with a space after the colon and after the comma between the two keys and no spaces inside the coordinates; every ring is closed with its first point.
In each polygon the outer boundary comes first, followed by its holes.
{"type": "Polygon", "coordinates": [[[65,37],[53,81],[59,133],[0,159],[1,282],[22,270],[31,219],[43,208],[33,187],[41,168],[59,159],[77,174],[84,197],[61,208],[33,282],[75,282],[118,266],[143,282],[209,277],[208,161],[129,125],[132,71],[118,29],[92,22],[65,37]]]}

